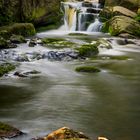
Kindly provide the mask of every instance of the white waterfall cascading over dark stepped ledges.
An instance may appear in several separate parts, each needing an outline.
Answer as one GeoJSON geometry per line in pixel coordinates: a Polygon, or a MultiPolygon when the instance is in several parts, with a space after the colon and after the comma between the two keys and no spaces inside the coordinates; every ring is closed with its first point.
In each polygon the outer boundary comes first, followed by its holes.
{"type": "Polygon", "coordinates": [[[102,23],[99,19],[101,4],[98,0],[89,2],[62,2],[64,24],[67,31],[99,32],[102,23]]]}

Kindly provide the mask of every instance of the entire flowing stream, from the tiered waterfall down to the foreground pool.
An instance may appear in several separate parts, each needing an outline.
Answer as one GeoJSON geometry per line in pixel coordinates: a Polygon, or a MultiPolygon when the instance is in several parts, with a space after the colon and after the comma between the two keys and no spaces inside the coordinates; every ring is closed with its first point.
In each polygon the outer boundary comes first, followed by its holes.
{"type": "MultiPolygon", "coordinates": [[[[117,39],[100,33],[101,6],[88,7],[80,2],[63,3],[65,27],[37,34],[37,37],[65,38],[83,44],[86,40],[106,37],[113,49],[101,51],[93,60],[52,61],[42,59],[49,48],[41,45],[6,50],[15,61],[33,52],[39,60],[19,62],[15,71],[36,70],[31,77],[16,77],[12,71],[0,78],[0,121],[27,133],[13,140],[44,136],[63,126],[82,131],[91,139],[105,136],[109,140],[140,138],[140,42],[118,45],[117,39]],[[90,19],[90,21],[88,20],[90,19]],[[88,21],[88,24],[87,22],[88,21]],[[82,31],[86,36],[70,36],[69,31],[82,31]],[[91,32],[94,31],[94,32],[91,32]],[[86,37],[86,40],[85,40],[86,37]],[[14,54],[14,55],[13,55],[14,54]],[[111,56],[111,57],[110,57],[111,56]],[[120,59],[124,57],[126,59],[120,59]],[[78,73],[77,66],[95,65],[99,73],[78,73]]],[[[66,50],[67,51],[67,50],[66,50]]],[[[2,53],[2,51],[0,52],[2,53]]],[[[54,51],[52,52],[54,53],[54,51]]],[[[57,52],[59,53],[59,52],[57,52]]],[[[48,57],[49,53],[47,53],[48,57]]],[[[7,58],[8,59],[8,58],[7,58]]]]}

